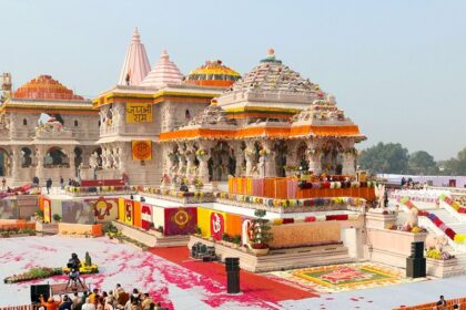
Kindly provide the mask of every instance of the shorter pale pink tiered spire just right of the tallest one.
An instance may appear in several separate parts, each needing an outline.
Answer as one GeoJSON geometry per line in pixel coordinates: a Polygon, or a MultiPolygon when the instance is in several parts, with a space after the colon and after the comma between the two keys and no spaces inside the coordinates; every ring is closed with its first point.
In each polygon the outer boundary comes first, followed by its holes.
{"type": "Polygon", "coordinates": [[[163,51],[152,71],[142,80],[140,85],[162,87],[168,84],[180,84],[181,82],[183,82],[183,74],[176,64],[170,60],[166,51],[163,51]]]}

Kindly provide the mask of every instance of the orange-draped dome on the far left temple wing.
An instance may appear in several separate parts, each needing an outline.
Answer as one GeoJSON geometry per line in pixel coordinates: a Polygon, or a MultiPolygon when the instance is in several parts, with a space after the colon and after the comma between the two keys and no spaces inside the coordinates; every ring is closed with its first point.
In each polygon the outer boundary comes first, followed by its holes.
{"type": "Polygon", "coordinates": [[[13,97],[34,99],[34,100],[84,100],[75,95],[73,91],[63,86],[60,82],[50,75],[40,75],[21,87],[19,87],[13,97]]]}

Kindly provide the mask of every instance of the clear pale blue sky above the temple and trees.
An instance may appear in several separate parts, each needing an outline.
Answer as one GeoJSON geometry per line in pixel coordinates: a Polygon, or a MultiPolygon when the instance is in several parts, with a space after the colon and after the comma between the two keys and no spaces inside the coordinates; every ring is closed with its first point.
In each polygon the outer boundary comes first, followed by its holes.
{"type": "Polygon", "coordinates": [[[367,141],[447,159],[466,146],[466,1],[0,0],[0,72],[51,74],[94,97],[115,85],[134,27],[153,65],[249,72],[269,48],[336,96],[367,141]]]}

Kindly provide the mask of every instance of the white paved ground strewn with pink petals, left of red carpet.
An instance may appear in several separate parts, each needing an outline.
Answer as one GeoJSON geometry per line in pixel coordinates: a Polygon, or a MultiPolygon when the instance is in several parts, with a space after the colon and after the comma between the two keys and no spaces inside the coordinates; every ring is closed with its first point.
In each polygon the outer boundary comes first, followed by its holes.
{"type": "MultiPolygon", "coordinates": [[[[99,275],[85,277],[87,283],[103,290],[121,283],[149,291],[169,309],[276,309],[274,304],[249,294],[229,296],[223,283],[170,262],[151,252],[128,245],[113,244],[107,238],[24,237],[0,239],[0,280],[32,267],[62,267],[77,252],[81,258],[89,251],[100,267],[99,275]]],[[[47,281],[60,283],[65,277],[47,281]]],[[[34,282],[47,282],[34,281],[34,282]]],[[[0,306],[20,306],[30,301],[32,282],[0,282],[0,306]],[[9,300],[11,299],[11,300],[9,300]]]]}

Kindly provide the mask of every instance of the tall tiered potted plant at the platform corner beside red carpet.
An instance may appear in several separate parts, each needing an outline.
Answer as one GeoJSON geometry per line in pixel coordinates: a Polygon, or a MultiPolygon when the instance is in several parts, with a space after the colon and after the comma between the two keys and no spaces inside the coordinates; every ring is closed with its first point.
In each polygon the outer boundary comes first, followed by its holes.
{"type": "Polygon", "coordinates": [[[256,256],[263,256],[269,254],[269,242],[273,240],[271,225],[269,219],[265,219],[265,210],[255,210],[255,217],[251,220],[251,250],[256,256]]]}

